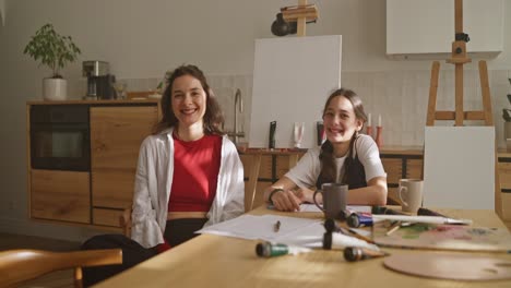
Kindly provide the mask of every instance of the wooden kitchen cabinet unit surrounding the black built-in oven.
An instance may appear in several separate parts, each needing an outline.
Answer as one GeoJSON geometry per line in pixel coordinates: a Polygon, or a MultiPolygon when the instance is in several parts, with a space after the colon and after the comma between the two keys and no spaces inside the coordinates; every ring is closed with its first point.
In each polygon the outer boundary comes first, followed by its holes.
{"type": "Polygon", "coordinates": [[[59,170],[58,167],[34,169],[28,125],[27,180],[31,218],[118,227],[119,216],[132,204],[139,148],[159,119],[158,101],[28,101],[28,123],[31,106],[36,105],[59,106],[59,111],[67,106],[86,106],[88,134],[81,141],[87,142],[85,146],[90,147],[91,153],[87,165],[90,168],[85,171],[59,170]]]}

